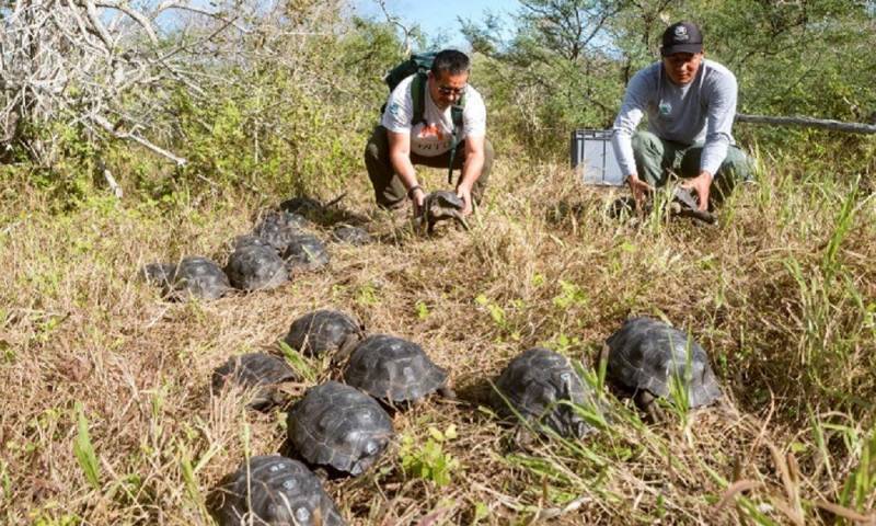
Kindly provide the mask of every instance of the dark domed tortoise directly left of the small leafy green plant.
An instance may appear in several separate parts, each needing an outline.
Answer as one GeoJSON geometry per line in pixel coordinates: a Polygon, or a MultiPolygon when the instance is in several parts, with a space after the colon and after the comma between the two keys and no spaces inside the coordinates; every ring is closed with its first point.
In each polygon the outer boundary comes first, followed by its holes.
{"type": "Polygon", "coordinates": [[[355,477],[383,455],[393,428],[377,400],[355,387],[328,381],[308,389],[289,410],[287,433],[306,461],[355,477]]]}

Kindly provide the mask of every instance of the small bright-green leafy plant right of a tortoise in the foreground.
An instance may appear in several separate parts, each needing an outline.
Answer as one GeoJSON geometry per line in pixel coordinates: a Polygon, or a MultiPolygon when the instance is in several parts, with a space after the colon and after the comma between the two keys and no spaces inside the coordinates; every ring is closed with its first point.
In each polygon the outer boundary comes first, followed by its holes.
{"type": "Polygon", "coordinates": [[[450,483],[453,471],[461,468],[461,464],[445,450],[445,445],[457,438],[457,426],[451,424],[443,432],[429,426],[429,437],[422,446],[411,435],[402,437],[402,470],[407,477],[430,480],[438,488],[450,483]]]}

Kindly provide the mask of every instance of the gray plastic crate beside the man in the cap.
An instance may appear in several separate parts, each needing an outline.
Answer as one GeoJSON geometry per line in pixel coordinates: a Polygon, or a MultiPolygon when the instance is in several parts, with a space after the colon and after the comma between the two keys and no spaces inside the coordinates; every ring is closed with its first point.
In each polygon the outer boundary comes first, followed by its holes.
{"type": "Polygon", "coordinates": [[[623,185],[623,174],[611,146],[611,129],[576,129],[572,133],[572,168],[584,184],[623,185]]]}

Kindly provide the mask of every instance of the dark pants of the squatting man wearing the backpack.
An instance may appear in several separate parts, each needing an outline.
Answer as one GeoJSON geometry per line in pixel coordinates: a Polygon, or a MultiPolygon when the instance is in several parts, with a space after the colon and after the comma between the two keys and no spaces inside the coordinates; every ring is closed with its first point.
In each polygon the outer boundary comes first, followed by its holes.
{"type": "MultiPolygon", "coordinates": [[[[461,141],[457,146],[457,153],[453,158],[453,171],[458,173],[457,184],[462,178],[462,167],[465,162],[465,141],[461,141]]],[[[493,145],[489,139],[484,140],[484,168],[481,171],[481,176],[474,182],[472,186],[472,198],[475,203],[481,202],[484,195],[487,180],[489,179],[489,170],[493,168],[493,145]]],[[[440,168],[447,170],[450,164],[450,152],[447,151],[436,157],[423,157],[416,153],[411,153],[411,163],[414,165],[420,164],[424,167],[440,168]]],[[[368,139],[368,145],[365,147],[365,168],[368,170],[368,178],[371,180],[371,185],[374,187],[374,198],[378,206],[381,208],[396,208],[404,203],[407,197],[407,190],[404,187],[401,178],[395,173],[390,161],[390,140],[387,135],[387,128],[383,126],[374,127],[371,138],[368,139]]],[[[442,178],[445,175],[442,174],[442,178]]]]}

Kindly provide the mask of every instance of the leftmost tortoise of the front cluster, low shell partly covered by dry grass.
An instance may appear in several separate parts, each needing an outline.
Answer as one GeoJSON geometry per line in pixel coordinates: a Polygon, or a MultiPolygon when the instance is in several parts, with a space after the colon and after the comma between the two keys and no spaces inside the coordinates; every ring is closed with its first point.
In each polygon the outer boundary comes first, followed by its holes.
{"type": "Polygon", "coordinates": [[[252,389],[253,398],[247,407],[256,410],[284,403],[285,397],[278,387],[299,380],[296,371],[285,359],[265,353],[233,356],[212,373],[212,388],[217,392],[230,386],[252,389]]]}

